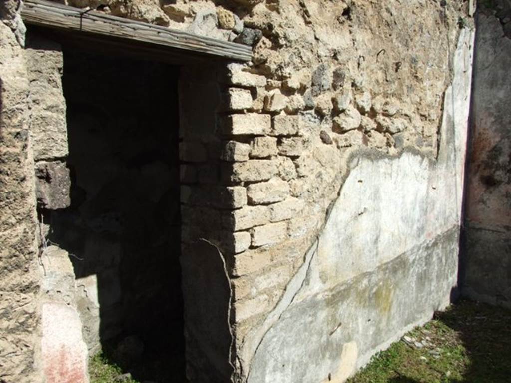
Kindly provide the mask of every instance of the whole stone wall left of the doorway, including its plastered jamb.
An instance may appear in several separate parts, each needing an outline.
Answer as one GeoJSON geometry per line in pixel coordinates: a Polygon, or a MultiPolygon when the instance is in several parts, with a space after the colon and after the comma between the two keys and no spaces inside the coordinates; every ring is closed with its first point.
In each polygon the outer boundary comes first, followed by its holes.
{"type": "Polygon", "coordinates": [[[87,349],[66,252],[47,246],[36,206],[69,203],[62,53],[47,41],[24,51],[17,1],[2,3],[2,330],[0,381],[86,382],[87,349]],[[65,358],[62,358],[62,353],[65,358]]]}

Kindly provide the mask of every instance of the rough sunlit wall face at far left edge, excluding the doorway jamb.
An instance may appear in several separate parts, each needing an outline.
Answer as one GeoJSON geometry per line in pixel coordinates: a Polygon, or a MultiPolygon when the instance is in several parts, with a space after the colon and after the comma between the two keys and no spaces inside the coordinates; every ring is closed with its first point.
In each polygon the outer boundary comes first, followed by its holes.
{"type": "Polygon", "coordinates": [[[29,79],[19,3],[0,4],[0,381],[37,381],[40,311],[29,79]]]}

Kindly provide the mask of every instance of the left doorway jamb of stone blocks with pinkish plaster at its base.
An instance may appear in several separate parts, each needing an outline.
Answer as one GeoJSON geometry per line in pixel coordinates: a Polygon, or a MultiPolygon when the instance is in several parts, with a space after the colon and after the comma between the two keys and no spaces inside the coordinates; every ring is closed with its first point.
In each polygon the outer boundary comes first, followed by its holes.
{"type": "Polygon", "coordinates": [[[83,340],[76,277],[67,251],[52,246],[51,214],[71,204],[71,178],[66,165],[68,139],[63,95],[62,46],[38,34],[26,36],[25,61],[30,82],[29,132],[34,163],[35,230],[39,247],[38,303],[41,314],[41,378],[47,383],[87,383],[87,346],[83,340]]]}

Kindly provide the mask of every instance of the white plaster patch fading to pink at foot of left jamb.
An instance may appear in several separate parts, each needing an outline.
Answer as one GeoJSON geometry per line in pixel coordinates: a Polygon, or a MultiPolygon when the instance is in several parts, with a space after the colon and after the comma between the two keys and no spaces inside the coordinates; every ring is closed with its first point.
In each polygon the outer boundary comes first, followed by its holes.
{"type": "Polygon", "coordinates": [[[87,346],[78,312],[65,303],[42,306],[42,363],[47,383],[88,383],[87,346]]]}

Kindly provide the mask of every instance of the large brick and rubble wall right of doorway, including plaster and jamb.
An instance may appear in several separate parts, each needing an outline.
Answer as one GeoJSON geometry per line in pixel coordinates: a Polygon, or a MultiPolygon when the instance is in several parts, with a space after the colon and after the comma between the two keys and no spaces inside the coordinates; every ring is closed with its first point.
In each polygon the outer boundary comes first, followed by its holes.
{"type": "Polygon", "coordinates": [[[342,381],[449,302],[466,2],[68,3],[253,47],[180,77],[192,381],[342,381]]]}

